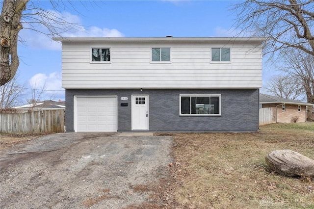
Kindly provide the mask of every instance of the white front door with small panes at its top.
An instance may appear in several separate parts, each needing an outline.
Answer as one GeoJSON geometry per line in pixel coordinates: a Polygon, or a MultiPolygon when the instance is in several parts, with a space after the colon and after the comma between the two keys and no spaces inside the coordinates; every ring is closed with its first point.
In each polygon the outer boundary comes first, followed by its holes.
{"type": "Polygon", "coordinates": [[[132,130],[148,130],[148,95],[132,95],[132,130]]]}

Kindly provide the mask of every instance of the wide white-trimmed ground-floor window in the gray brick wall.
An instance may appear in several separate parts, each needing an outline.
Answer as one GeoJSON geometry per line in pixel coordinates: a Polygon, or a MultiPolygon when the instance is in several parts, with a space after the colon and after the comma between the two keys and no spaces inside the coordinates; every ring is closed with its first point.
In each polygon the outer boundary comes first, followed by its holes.
{"type": "Polygon", "coordinates": [[[180,95],[180,115],[220,116],[221,95],[180,95]]]}

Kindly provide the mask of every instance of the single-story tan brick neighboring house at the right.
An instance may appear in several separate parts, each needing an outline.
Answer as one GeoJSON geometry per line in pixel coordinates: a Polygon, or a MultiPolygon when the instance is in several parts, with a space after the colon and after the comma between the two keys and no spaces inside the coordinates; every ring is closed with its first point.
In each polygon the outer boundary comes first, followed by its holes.
{"type": "Polygon", "coordinates": [[[312,106],[314,104],[260,94],[260,108],[268,108],[273,114],[273,120],[269,123],[306,122],[308,107],[312,106]]]}

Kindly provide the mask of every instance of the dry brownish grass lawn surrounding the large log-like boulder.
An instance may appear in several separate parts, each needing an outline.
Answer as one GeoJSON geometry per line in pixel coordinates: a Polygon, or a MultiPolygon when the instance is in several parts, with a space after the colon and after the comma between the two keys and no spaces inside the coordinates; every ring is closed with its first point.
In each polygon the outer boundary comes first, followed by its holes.
{"type": "Polygon", "coordinates": [[[174,134],[166,208],[314,209],[314,179],[270,171],[265,156],[291,149],[314,159],[314,123],[272,124],[256,133],[174,134]]]}

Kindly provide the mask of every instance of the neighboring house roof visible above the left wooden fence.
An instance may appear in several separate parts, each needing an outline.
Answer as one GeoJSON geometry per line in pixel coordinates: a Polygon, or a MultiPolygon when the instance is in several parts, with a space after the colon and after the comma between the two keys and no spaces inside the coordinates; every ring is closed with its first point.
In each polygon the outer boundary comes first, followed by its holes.
{"type": "Polygon", "coordinates": [[[29,112],[29,111],[39,111],[39,110],[52,110],[52,109],[64,109],[65,102],[62,101],[52,101],[47,100],[43,102],[38,102],[34,104],[25,104],[21,106],[14,106],[12,109],[16,109],[18,112],[29,112]]]}

